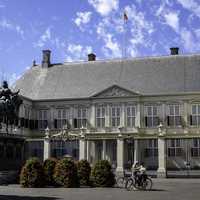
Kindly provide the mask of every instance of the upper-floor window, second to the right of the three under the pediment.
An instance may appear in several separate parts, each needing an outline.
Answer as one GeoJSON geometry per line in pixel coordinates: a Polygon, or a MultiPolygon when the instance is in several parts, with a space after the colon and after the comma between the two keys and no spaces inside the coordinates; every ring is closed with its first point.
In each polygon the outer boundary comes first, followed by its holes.
{"type": "Polygon", "coordinates": [[[181,126],[181,112],[180,105],[168,105],[168,117],[167,117],[168,126],[181,126]]]}

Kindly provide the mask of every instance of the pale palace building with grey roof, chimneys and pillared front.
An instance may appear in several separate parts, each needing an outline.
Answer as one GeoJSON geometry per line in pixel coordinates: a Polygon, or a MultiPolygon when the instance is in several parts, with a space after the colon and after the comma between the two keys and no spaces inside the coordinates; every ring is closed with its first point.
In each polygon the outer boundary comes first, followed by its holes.
{"type": "Polygon", "coordinates": [[[200,55],[171,48],[168,56],[89,54],[56,64],[50,55],[44,50],[41,65],[16,82],[26,158],[107,159],[119,173],[139,161],[160,177],[200,169],[200,55]]]}

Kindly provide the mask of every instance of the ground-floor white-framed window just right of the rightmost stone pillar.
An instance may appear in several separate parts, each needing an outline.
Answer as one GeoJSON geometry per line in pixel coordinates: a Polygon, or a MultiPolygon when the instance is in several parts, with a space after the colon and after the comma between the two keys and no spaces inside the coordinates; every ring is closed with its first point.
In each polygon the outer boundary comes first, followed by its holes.
{"type": "Polygon", "coordinates": [[[182,156],[181,139],[168,140],[168,156],[169,157],[182,156]]]}

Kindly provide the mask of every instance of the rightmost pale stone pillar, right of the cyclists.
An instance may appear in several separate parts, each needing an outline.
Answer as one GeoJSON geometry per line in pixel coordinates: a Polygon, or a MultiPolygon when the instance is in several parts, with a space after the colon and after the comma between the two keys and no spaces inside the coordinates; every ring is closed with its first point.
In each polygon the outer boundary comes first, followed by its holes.
{"type": "Polygon", "coordinates": [[[158,178],[166,178],[166,148],[165,138],[158,137],[158,178]]]}

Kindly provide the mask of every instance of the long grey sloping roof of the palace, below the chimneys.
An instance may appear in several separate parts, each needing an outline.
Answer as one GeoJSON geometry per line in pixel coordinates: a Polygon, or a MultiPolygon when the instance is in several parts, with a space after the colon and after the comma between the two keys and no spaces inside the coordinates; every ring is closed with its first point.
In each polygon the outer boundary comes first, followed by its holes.
{"type": "Polygon", "coordinates": [[[32,67],[16,89],[33,100],[87,98],[119,85],[139,93],[173,94],[200,91],[200,55],[89,61],[32,67]]]}

